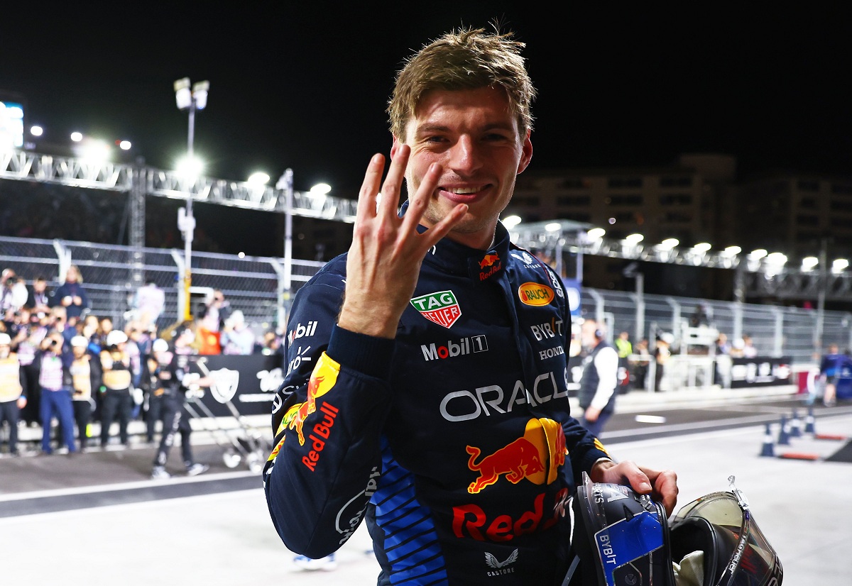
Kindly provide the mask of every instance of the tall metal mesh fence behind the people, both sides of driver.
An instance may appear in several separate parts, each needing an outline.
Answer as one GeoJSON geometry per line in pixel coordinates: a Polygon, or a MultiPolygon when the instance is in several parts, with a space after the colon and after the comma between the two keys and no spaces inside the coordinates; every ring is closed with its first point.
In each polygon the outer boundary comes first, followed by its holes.
{"type": "MultiPolygon", "coordinates": [[[[134,250],[109,244],[0,237],[0,268],[13,268],[27,283],[41,275],[50,288],[55,288],[61,284],[68,265],[76,264],[83,273],[91,313],[110,317],[119,327],[124,325],[135,294],[132,271],[140,266],[145,280],[153,280],[166,294],[158,325],[176,321],[181,261],[180,250],[134,250]]],[[[293,286],[288,291],[283,262],[273,257],[240,258],[197,252],[193,254],[193,289],[198,295],[205,290],[222,290],[231,307],[242,311],[253,329],[281,330],[291,294],[324,264],[294,260],[293,286]]],[[[602,319],[609,336],[628,331],[634,343],[647,338],[652,347],[654,336],[662,331],[671,332],[679,345],[699,305],[705,307],[709,325],[727,334],[729,341],[749,335],[758,353],[790,356],[794,364],[813,363],[821,348],[830,342],[841,348],[852,347],[852,313],[824,312],[823,339],[815,340],[819,313],[813,309],[593,289],[584,289],[582,297],[584,314],[602,319]]]]}

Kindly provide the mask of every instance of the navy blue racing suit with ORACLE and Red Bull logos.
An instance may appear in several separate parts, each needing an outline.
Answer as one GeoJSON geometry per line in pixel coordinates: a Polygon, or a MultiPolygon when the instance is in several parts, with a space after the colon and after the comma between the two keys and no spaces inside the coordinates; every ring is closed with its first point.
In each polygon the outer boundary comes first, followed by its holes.
{"type": "Polygon", "coordinates": [[[264,468],[286,546],[320,558],[366,517],[380,584],[557,584],[567,503],[607,457],[570,416],[570,312],[550,267],[498,225],[444,238],[395,340],[337,327],[346,256],[298,291],[264,468]]]}

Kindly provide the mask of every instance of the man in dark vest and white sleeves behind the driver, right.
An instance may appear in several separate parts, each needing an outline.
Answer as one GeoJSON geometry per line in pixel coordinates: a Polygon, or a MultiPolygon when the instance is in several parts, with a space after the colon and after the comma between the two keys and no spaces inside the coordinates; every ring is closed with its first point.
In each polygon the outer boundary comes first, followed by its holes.
{"type": "Polygon", "coordinates": [[[583,359],[583,376],[580,378],[578,393],[579,405],[583,410],[580,424],[597,437],[615,411],[619,354],[604,338],[603,326],[594,319],[583,322],[580,337],[588,352],[583,359]]]}

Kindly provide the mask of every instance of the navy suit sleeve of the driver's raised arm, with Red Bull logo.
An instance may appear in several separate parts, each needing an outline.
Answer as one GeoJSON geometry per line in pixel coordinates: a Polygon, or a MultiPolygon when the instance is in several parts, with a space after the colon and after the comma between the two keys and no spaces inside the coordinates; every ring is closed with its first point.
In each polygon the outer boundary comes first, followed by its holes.
{"type": "Polygon", "coordinates": [[[263,471],[269,514],[288,549],[320,558],[363,520],[381,474],[394,341],[335,325],[341,293],[299,291],[285,341],[287,373],[273,405],[263,471]]]}

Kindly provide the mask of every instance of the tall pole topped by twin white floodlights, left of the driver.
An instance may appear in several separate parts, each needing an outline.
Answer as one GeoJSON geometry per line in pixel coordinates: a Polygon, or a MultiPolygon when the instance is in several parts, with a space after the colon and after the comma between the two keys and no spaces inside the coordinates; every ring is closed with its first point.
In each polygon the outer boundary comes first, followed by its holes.
{"type": "MultiPolygon", "coordinates": [[[[189,78],[180,78],[173,84],[175,89],[175,102],[178,110],[186,110],[189,113],[189,131],[187,132],[187,176],[195,177],[200,174],[200,169],[195,163],[193,152],[193,141],[195,140],[195,111],[204,110],[207,107],[207,94],[210,91],[210,82],[203,81],[191,83],[189,78]],[[194,175],[191,175],[193,174],[194,175]]],[[[183,233],[184,256],[186,266],[183,267],[183,319],[193,319],[190,308],[190,288],[193,284],[192,257],[193,257],[193,232],[195,231],[195,219],[193,217],[193,192],[187,189],[187,208],[178,210],[178,228],[183,233]]],[[[178,308],[180,310],[180,307],[178,308]]],[[[180,313],[180,311],[179,311],[180,313]]]]}

